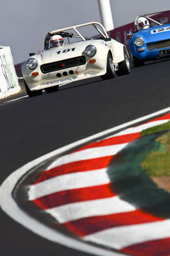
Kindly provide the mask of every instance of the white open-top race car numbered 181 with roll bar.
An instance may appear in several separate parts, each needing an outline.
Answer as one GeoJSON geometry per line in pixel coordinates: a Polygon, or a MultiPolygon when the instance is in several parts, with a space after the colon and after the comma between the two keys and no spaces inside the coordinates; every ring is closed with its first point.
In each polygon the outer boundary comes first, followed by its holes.
{"type": "Polygon", "coordinates": [[[25,89],[30,97],[40,95],[42,90],[46,93],[57,91],[60,84],[81,79],[96,76],[101,76],[103,80],[110,79],[115,77],[115,73],[117,76],[130,73],[129,54],[125,45],[108,36],[99,22],[48,33],[45,49],[39,54],[30,53],[29,59],[22,65],[25,89]],[[89,26],[99,35],[96,34],[95,38],[81,35],[83,28],[89,33],[89,26]],[[62,37],[64,44],[51,47],[53,35],[62,37]]]}

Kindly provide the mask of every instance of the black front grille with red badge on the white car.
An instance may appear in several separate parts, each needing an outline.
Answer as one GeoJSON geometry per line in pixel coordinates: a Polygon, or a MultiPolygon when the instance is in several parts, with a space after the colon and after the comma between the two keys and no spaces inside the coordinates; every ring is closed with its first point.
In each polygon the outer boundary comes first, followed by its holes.
{"type": "Polygon", "coordinates": [[[86,62],[85,56],[80,56],[76,58],[71,58],[67,60],[55,61],[51,63],[46,63],[41,65],[41,71],[43,74],[66,69],[66,68],[73,68],[80,65],[84,65],[86,62]]]}

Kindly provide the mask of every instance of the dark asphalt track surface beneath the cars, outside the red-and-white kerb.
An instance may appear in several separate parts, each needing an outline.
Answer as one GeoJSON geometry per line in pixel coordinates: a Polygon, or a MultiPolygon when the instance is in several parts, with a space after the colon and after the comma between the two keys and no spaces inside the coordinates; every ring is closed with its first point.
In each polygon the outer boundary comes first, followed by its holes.
{"type": "MultiPolygon", "coordinates": [[[[17,95],[1,99],[0,183],[52,150],[168,108],[169,67],[169,60],[156,61],[108,81],[74,82],[33,98],[24,97],[22,87],[17,95]]],[[[1,210],[0,219],[1,256],[89,255],[37,236],[1,210]]]]}

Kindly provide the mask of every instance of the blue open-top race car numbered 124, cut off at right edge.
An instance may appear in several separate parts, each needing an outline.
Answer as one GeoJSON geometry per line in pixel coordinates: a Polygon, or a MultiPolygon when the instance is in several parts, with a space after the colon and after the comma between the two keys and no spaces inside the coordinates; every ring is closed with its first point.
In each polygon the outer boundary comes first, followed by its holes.
{"type": "Polygon", "coordinates": [[[134,22],[136,31],[127,33],[134,67],[143,66],[145,61],[170,57],[170,24],[148,17],[157,13],[162,12],[139,15],[134,22]]]}

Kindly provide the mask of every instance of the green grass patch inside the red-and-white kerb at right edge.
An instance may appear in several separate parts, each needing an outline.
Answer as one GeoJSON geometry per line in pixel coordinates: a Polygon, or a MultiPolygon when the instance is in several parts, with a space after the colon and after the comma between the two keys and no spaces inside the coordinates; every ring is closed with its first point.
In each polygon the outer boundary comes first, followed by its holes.
{"type": "Polygon", "coordinates": [[[158,125],[141,132],[141,136],[147,136],[154,132],[160,132],[157,143],[159,150],[151,152],[141,163],[141,167],[148,175],[155,177],[163,177],[170,175],[170,122],[158,125]],[[164,131],[164,132],[163,132],[164,131]],[[162,133],[163,132],[163,133],[162,133]]]}

